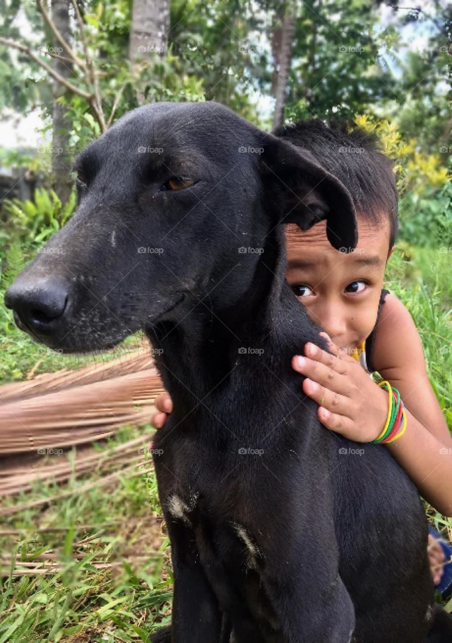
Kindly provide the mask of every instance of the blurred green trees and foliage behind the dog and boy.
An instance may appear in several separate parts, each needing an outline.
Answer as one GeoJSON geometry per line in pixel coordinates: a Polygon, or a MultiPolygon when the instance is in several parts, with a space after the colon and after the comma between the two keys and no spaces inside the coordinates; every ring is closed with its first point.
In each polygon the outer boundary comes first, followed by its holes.
{"type": "MultiPolygon", "coordinates": [[[[0,107],[17,131],[17,144],[0,150],[0,174],[19,168],[33,188],[29,199],[0,189],[0,296],[73,213],[75,154],[126,111],[160,100],[216,100],[267,130],[319,117],[377,131],[395,161],[399,249],[406,261],[437,249],[424,273],[437,271],[440,254],[446,270],[446,1],[5,0],[0,12],[0,107]],[[39,117],[34,147],[21,145],[30,114],[39,117]]],[[[0,379],[21,379],[29,340],[4,307],[0,325],[0,379]]]]}

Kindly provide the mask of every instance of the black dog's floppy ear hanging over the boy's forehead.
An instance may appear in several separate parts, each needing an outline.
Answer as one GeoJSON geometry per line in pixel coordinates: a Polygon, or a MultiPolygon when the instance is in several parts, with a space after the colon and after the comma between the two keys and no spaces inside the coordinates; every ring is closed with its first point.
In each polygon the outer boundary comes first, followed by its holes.
{"type": "Polygon", "coordinates": [[[327,220],[326,236],[334,248],[350,252],[357,244],[357,222],[346,187],[301,147],[266,134],[259,155],[267,203],[279,223],[308,230],[327,220]]]}

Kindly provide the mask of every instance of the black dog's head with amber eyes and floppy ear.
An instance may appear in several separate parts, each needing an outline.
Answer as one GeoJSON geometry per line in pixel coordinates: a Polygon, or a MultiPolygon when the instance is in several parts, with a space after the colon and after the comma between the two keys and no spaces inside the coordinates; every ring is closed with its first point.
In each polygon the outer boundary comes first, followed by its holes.
{"type": "Polygon", "coordinates": [[[206,297],[236,305],[280,223],[327,219],[336,248],[355,246],[342,183],[220,104],[140,107],[75,170],[77,212],[5,296],[21,329],[65,352],[107,349],[206,297]]]}

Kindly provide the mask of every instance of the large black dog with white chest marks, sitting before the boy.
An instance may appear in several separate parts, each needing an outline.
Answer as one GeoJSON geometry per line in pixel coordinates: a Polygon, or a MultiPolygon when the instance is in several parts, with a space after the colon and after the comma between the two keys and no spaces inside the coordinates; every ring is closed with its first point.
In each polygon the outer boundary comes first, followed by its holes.
{"type": "Polygon", "coordinates": [[[335,248],[353,247],[344,186],[212,102],[141,107],[76,168],[77,213],[5,301],[52,348],[144,329],[162,351],[174,411],[154,459],[174,601],[153,640],[452,640],[415,486],[381,446],[344,458],[357,445],[319,424],[290,365],[325,343],[285,283],[281,224],[327,219],[335,248]]]}

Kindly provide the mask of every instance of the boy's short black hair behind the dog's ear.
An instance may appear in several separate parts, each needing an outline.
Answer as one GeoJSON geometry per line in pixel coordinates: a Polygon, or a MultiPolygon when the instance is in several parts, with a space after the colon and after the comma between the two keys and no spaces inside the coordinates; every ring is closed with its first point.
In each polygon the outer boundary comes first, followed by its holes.
{"type": "Polygon", "coordinates": [[[392,161],[383,154],[379,138],[348,122],[326,125],[320,118],[289,123],[273,134],[309,150],[352,195],[357,212],[378,224],[390,220],[390,248],[399,221],[398,195],[392,161]]]}

